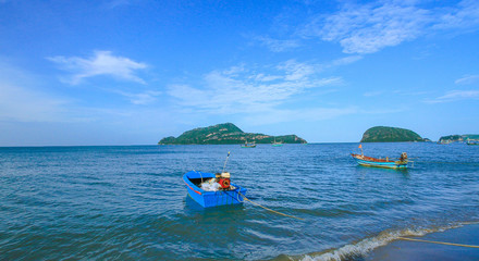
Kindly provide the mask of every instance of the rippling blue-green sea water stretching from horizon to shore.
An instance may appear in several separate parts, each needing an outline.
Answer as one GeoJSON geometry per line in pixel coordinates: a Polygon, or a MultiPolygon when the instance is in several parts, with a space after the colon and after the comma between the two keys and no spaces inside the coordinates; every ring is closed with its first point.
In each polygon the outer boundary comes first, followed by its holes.
{"type": "Polygon", "coordinates": [[[394,171],[358,166],[357,146],[0,148],[0,259],[361,260],[479,221],[479,147],[363,145],[416,158],[394,171]],[[228,151],[250,200],[305,221],[187,197],[182,175],[221,171],[228,151]]]}

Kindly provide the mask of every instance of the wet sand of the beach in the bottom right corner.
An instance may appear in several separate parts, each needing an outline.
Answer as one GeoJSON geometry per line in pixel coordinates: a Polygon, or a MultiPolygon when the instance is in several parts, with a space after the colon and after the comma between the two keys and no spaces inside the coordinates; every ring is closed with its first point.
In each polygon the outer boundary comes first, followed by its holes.
{"type": "MultiPolygon", "coordinates": [[[[458,228],[428,234],[422,237],[409,237],[421,240],[453,243],[479,246],[479,224],[465,225],[458,228]]],[[[468,261],[479,260],[479,248],[446,246],[431,243],[395,240],[388,246],[379,247],[370,252],[365,260],[446,260],[468,261]]]]}

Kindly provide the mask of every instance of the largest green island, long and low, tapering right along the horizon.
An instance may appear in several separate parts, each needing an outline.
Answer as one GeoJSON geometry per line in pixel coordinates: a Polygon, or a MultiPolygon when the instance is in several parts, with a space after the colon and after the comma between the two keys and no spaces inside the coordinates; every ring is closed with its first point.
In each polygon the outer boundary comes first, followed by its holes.
{"type": "Polygon", "coordinates": [[[306,144],[296,135],[270,136],[265,134],[245,133],[232,123],[217,124],[209,127],[194,128],[177,138],[170,136],[161,139],[159,145],[229,145],[229,144],[306,144]]]}

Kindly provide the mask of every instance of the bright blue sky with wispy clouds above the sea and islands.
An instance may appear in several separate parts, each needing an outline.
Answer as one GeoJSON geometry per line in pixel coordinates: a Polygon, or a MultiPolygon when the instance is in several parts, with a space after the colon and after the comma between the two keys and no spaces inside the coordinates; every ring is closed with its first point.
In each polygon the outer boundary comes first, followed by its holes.
{"type": "Polygon", "coordinates": [[[479,1],[0,0],[0,146],[479,134],[479,1]]]}

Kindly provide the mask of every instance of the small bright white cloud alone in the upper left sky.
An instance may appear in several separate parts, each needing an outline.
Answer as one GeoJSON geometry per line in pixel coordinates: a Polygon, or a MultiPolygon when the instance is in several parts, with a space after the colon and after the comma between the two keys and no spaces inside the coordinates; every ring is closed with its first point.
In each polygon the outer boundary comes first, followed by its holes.
{"type": "Polygon", "coordinates": [[[47,59],[58,63],[61,70],[72,73],[66,80],[72,85],[79,84],[84,78],[98,75],[146,84],[144,79],[135,75],[135,71],[147,67],[145,63],[135,62],[128,58],[115,57],[111,51],[95,51],[94,55],[89,58],[51,57],[47,59]]]}

